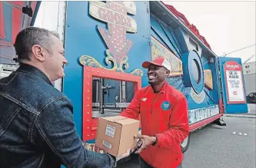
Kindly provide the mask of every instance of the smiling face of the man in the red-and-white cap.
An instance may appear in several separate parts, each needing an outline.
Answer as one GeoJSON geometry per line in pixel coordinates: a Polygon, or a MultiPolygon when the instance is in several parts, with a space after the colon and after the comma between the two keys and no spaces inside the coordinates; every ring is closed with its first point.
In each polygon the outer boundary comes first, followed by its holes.
{"type": "Polygon", "coordinates": [[[162,84],[170,72],[164,68],[155,64],[148,66],[148,83],[151,85],[162,84]]]}

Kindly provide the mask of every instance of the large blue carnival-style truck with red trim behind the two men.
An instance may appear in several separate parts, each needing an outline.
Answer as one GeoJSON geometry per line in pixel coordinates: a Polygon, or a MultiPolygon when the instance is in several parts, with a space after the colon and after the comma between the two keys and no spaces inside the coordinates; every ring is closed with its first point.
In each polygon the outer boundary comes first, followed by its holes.
{"type": "MultiPolygon", "coordinates": [[[[148,86],[141,64],[157,57],[170,61],[168,84],[188,100],[190,132],[225,126],[225,113],[248,112],[241,58],[218,57],[196,26],[165,2],[0,2],[0,64],[18,67],[13,44],[28,26],[60,35],[68,66],[54,86],[71,100],[88,150],[104,152],[95,147],[98,118],[119,115],[148,86]]],[[[190,135],[181,143],[183,153],[189,141],[190,135]]]]}

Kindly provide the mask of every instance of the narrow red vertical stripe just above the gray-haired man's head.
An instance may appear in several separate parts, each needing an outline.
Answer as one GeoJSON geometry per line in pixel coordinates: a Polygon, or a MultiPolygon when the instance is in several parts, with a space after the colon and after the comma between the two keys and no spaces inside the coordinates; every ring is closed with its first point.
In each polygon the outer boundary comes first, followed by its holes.
{"type": "Polygon", "coordinates": [[[12,7],[12,43],[15,43],[16,35],[21,28],[22,12],[12,7]]]}

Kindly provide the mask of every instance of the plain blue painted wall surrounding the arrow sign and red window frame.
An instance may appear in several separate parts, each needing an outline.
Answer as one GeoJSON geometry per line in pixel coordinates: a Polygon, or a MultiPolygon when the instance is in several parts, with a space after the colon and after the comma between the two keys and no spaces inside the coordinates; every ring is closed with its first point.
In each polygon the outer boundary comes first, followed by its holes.
{"type": "MultiPolygon", "coordinates": [[[[149,46],[149,14],[146,5],[148,2],[135,2],[137,7],[136,15],[129,15],[137,21],[137,33],[126,33],[126,39],[133,42],[128,51],[129,68],[127,73],[136,68],[141,68],[145,60],[151,60],[151,49],[149,46]],[[143,19],[141,19],[143,18],[143,19]]],[[[89,55],[97,60],[105,68],[111,68],[105,64],[105,51],[107,46],[101,38],[97,26],[107,28],[107,23],[92,18],[89,15],[88,2],[67,2],[67,18],[65,26],[65,57],[68,59],[68,66],[65,67],[63,92],[74,106],[74,122],[81,137],[82,127],[82,79],[83,68],[78,63],[81,55],[89,55]]],[[[148,85],[147,70],[141,68],[144,76],[141,78],[142,87],[148,85]]]]}

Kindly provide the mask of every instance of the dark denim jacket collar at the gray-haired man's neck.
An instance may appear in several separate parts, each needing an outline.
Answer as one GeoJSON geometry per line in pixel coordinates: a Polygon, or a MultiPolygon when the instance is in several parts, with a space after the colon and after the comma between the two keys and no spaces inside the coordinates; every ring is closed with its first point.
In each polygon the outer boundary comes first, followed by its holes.
{"type": "Polygon", "coordinates": [[[49,78],[46,76],[46,74],[44,74],[41,70],[39,70],[38,68],[36,68],[30,64],[20,64],[17,71],[25,72],[27,74],[31,74],[36,77],[39,77],[42,80],[44,80],[46,83],[51,84],[53,86],[52,82],[49,80],[49,78]]]}

